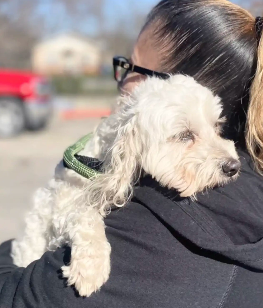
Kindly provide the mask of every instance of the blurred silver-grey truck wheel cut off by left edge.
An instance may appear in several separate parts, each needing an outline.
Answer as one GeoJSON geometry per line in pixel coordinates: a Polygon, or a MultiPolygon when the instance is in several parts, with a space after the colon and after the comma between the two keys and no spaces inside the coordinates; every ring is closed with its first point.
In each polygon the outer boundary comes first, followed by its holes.
{"type": "Polygon", "coordinates": [[[25,127],[22,102],[15,97],[0,97],[0,137],[19,134],[25,127]]]}

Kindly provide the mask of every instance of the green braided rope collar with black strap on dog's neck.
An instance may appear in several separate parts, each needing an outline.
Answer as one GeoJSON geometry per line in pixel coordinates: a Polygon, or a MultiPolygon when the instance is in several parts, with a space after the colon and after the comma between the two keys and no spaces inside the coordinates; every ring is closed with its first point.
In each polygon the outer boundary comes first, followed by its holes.
{"type": "Polygon", "coordinates": [[[100,175],[102,166],[102,162],[96,158],[78,155],[85,148],[91,137],[92,134],[82,137],[75,144],[68,147],[63,155],[64,167],[74,170],[87,179],[100,175]]]}

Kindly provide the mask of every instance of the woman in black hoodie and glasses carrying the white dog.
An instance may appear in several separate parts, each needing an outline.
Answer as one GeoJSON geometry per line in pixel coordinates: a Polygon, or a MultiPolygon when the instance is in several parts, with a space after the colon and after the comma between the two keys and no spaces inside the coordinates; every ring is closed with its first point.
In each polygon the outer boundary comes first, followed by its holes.
{"type": "Polygon", "coordinates": [[[115,59],[137,71],[116,75],[123,93],[153,71],[195,77],[224,102],[241,176],[198,202],[145,178],[133,201],[106,219],[111,277],[91,298],[76,297],[60,277],[70,249],[15,268],[10,242],[2,244],[0,307],[262,307],[262,28],[262,18],[226,0],[163,0],[152,10],[131,65],[115,59]]]}

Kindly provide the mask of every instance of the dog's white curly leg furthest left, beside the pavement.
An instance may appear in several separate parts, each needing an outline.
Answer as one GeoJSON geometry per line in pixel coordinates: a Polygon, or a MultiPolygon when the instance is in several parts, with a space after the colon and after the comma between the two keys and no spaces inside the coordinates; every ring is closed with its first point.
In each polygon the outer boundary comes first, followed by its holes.
{"type": "Polygon", "coordinates": [[[53,188],[56,185],[53,179],[46,188],[39,188],[34,195],[33,209],[26,216],[25,231],[12,242],[11,256],[17,266],[26,267],[38,260],[47,249],[46,234],[52,215],[53,188]]]}

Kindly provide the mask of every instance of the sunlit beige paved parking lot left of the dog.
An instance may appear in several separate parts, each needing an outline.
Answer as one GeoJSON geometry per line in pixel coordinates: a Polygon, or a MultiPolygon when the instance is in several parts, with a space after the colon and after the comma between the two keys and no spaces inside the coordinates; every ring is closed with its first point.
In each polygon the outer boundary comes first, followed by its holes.
{"type": "Polygon", "coordinates": [[[32,193],[51,178],[65,148],[98,123],[99,119],[56,118],[45,131],[0,140],[0,242],[22,229],[32,193]]]}

